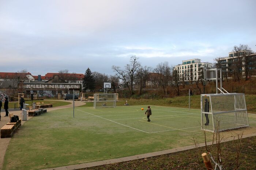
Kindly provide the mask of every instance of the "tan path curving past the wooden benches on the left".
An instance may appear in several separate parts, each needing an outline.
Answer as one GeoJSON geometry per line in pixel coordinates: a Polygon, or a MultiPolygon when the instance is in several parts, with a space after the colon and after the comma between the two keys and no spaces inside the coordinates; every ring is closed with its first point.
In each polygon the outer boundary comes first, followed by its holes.
{"type": "MultiPolygon", "coordinates": [[[[63,100],[58,100],[58,101],[63,102],[63,100]]],[[[61,109],[61,108],[73,107],[73,101],[72,100],[66,100],[65,102],[70,102],[70,104],[65,105],[65,106],[58,106],[58,107],[47,108],[47,112],[53,111],[53,110],[57,110],[57,109],[61,109]]],[[[82,106],[84,104],[86,104],[86,103],[80,102],[80,101],[75,101],[75,107],[82,106]]],[[[21,111],[20,110],[19,111],[9,111],[9,113],[13,113],[14,115],[18,115],[19,118],[21,119],[21,111]]],[[[1,113],[0,114],[1,114],[1,121],[0,121],[0,128],[1,128],[6,123],[10,122],[10,118],[9,118],[9,116],[8,117],[4,116],[5,115],[5,110],[3,108],[1,109],[1,113]]],[[[27,116],[27,120],[26,121],[28,121],[31,118],[33,118],[33,117],[27,116]]],[[[21,125],[23,123],[25,123],[26,121],[22,121],[21,125]]],[[[5,155],[6,149],[7,149],[8,144],[9,144],[10,141],[11,141],[11,138],[0,138],[0,170],[3,169],[4,155],[5,155]]]]}

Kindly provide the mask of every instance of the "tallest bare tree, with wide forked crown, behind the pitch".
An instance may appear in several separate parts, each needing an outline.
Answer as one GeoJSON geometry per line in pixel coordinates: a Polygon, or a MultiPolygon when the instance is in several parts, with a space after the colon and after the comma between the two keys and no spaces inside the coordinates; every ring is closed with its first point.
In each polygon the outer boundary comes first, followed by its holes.
{"type": "Polygon", "coordinates": [[[116,76],[128,87],[131,95],[133,94],[135,74],[141,67],[138,59],[136,56],[131,56],[130,63],[125,66],[125,70],[121,70],[118,66],[112,66],[112,69],[116,72],[116,76]]]}

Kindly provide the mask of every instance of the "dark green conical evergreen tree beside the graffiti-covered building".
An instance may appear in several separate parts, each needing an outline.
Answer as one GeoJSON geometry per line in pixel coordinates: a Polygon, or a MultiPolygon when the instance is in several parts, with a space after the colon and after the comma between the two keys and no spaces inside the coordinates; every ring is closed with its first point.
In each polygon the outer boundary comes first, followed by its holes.
{"type": "Polygon", "coordinates": [[[95,79],[90,68],[87,68],[87,70],[84,73],[83,92],[86,92],[87,90],[94,91],[94,89],[95,89],[95,79]]]}

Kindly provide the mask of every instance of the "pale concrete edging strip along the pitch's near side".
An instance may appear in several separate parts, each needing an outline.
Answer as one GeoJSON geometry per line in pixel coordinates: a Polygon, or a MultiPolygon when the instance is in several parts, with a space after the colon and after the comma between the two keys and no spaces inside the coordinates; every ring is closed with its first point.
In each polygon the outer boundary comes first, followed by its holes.
{"type": "MultiPolygon", "coordinates": [[[[249,138],[249,137],[254,137],[256,136],[256,133],[252,134],[246,134],[242,136],[242,139],[244,138],[249,138]]],[[[225,139],[223,142],[228,142],[228,141],[233,141],[233,140],[238,139],[238,137],[230,137],[225,139]]],[[[215,144],[215,143],[214,143],[215,144]]],[[[206,145],[212,145],[212,141],[206,142],[206,145]]],[[[203,147],[205,146],[205,143],[199,143],[197,147],[203,147]]],[[[143,158],[148,158],[148,157],[155,157],[159,155],[165,155],[165,154],[170,154],[170,153],[175,153],[175,152],[180,152],[180,151],[185,151],[185,150],[190,150],[190,149],[195,149],[195,145],[189,145],[189,146],[183,146],[183,147],[177,147],[173,149],[167,149],[163,151],[156,151],[152,153],[146,153],[146,154],[139,154],[139,155],[133,155],[129,157],[123,157],[123,158],[116,158],[116,159],[107,159],[103,161],[96,161],[96,162],[89,162],[89,163],[81,163],[81,164],[76,164],[76,165],[69,165],[69,166],[61,166],[61,167],[56,167],[56,168],[48,168],[48,169],[43,169],[43,170],[75,170],[75,169],[82,169],[82,168],[87,168],[87,167],[94,167],[94,166],[101,166],[101,165],[108,165],[111,163],[119,163],[119,162],[127,162],[127,161],[133,161],[136,159],[143,159],[143,158]]]]}

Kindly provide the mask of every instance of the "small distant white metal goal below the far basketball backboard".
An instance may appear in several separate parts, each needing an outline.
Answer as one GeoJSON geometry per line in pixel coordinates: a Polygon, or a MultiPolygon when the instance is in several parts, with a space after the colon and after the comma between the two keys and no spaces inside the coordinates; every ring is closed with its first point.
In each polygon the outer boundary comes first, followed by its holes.
{"type": "Polygon", "coordinates": [[[116,107],[117,94],[94,94],[94,108],[116,107]]]}

